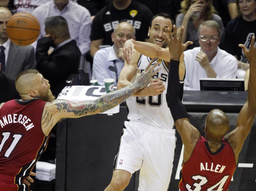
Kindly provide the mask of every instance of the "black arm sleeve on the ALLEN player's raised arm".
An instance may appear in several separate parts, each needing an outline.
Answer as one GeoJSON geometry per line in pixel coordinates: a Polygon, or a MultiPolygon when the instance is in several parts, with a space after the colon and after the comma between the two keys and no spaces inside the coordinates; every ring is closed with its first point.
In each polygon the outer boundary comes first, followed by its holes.
{"type": "Polygon", "coordinates": [[[186,108],[179,99],[181,93],[179,83],[179,63],[179,61],[170,60],[166,93],[167,105],[170,108],[174,122],[181,118],[188,118],[186,108]]]}

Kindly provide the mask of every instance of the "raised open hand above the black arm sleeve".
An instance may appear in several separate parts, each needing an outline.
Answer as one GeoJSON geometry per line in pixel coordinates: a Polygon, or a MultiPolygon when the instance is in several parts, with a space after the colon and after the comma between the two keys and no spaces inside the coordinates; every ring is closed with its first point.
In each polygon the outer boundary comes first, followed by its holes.
{"type": "Polygon", "coordinates": [[[177,29],[176,25],[173,25],[173,37],[170,28],[167,28],[167,31],[169,33],[169,36],[167,36],[166,33],[164,33],[164,37],[166,38],[169,46],[169,52],[171,55],[171,60],[180,60],[180,55],[183,53],[183,51],[187,48],[188,45],[193,44],[191,41],[187,41],[186,43],[182,43],[182,35],[184,27],[181,27],[180,35],[177,37],[177,29]]]}

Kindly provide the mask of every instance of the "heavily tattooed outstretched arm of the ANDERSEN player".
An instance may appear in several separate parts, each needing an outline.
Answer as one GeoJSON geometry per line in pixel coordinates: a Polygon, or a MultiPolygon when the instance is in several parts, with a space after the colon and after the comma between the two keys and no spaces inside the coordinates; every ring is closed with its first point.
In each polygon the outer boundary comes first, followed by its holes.
{"type": "Polygon", "coordinates": [[[41,119],[42,131],[45,136],[49,135],[53,126],[61,118],[78,118],[105,112],[125,101],[136,91],[146,87],[151,82],[151,77],[160,70],[159,68],[156,71],[153,71],[157,64],[150,68],[151,63],[152,62],[150,62],[146,70],[136,78],[135,82],[120,90],[102,95],[96,100],[82,101],[78,103],[67,100],[47,102],[41,119]]]}

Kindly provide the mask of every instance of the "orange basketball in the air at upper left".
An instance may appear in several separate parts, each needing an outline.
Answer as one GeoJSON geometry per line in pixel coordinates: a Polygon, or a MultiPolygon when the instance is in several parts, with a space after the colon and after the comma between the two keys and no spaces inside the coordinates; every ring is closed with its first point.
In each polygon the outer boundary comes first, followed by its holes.
{"type": "Polygon", "coordinates": [[[11,16],[6,24],[6,33],[15,45],[27,46],[38,38],[40,25],[33,15],[20,12],[11,16]]]}

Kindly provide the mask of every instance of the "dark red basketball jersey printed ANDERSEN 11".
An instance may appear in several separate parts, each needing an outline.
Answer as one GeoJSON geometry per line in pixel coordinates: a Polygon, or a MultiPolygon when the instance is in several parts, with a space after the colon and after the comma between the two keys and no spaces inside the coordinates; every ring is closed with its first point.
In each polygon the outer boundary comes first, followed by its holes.
{"type": "Polygon", "coordinates": [[[22,180],[47,146],[49,136],[41,128],[45,103],[11,100],[0,109],[0,181],[8,179],[10,183],[13,177],[16,190],[27,190],[22,180]]]}

